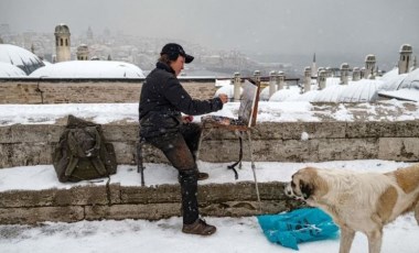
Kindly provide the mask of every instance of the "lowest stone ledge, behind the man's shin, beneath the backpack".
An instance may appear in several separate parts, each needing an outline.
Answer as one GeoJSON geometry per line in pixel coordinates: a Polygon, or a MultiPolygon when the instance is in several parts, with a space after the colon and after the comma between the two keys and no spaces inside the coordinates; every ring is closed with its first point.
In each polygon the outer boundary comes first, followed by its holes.
{"type": "MultiPolygon", "coordinates": [[[[243,217],[289,211],[300,204],[283,195],[284,183],[208,184],[198,187],[202,215],[243,217]]],[[[157,220],[181,215],[179,185],[126,187],[119,184],[69,189],[0,193],[0,223],[75,222],[100,219],[157,220]]]]}

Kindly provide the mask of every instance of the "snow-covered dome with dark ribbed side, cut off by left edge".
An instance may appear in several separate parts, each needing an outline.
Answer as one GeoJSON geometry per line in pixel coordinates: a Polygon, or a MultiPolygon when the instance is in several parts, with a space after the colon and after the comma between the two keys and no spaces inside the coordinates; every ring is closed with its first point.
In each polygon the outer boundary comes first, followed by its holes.
{"type": "Polygon", "coordinates": [[[9,44],[0,44],[0,62],[14,65],[26,75],[45,66],[42,59],[30,51],[9,44]]]}

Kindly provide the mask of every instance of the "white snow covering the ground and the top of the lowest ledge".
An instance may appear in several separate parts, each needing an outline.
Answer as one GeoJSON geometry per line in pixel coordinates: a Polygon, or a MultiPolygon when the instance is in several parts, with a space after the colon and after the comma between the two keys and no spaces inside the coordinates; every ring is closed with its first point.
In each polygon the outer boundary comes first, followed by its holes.
{"type": "MultiPolygon", "coordinates": [[[[234,175],[226,169],[226,164],[198,162],[210,178],[202,184],[235,182],[234,175]]],[[[406,167],[409,163],[367,160],[335,161],[324,163],[256,163],[258,182],[288,182],[291,175],[304,166],[318,166],[358,172],[388,172],[406,167]]],[[[146,164],[146,184],[178,184],[176,170],[164,164],[146,164]]],[[[253,180],[249,162],[245,162],[239,179],[253,180]]],[[[139,186],[139,174],[136,166],[118,166],[112,183],[127,186],[139,186]]],[[[75,185],[105,184],[77,183],[63,184],[56,179],[51,165],[31,167],[13,167],[0,169],[0,191],[9,189],[66,188],[75,185]],[[25,184],[22,184],[25,182],[25,184]]],[[[281,189],[280,189],[281,190],[281,189]]],[[[214,218],[206,221],[217,227],[217,232],[208,238],[187,235],[181,232],[182,219],[179,217],[159,221],[146,220],[104,220],[80,221],[75,223],[45,222],[36,227],[0,226],[0,252],[2,253],[119,253],[119,252],[294,252],[269,242],[260,229],[256,217],[214,218]]],[[[399,217],[384,230],[383,253],[418,253],[419,226],[413,215],[399,217]]],[[[339,239],[299,244],[299,252],[324,253],[337,252],[339,239]]],[[[352,252],[367,252],[367,240],[358,233],[354,240],[352,252]]]]}

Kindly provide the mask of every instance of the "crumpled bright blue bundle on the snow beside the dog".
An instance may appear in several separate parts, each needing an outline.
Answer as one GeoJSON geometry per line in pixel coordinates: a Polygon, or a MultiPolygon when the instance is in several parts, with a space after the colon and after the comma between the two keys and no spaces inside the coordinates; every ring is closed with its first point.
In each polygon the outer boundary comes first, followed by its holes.
{"type": "Polygon", "coordinates": [[[258,216],[269,241],[298,250],[298,243],[337,238],[339,227],[319,208],[302,208],[287,213],[258,216]]]}

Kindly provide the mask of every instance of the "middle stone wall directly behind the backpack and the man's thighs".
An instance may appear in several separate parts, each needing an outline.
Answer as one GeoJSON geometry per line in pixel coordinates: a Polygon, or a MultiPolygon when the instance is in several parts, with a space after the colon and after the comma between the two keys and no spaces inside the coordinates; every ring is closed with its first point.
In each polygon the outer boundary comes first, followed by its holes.
{"type": "MultiPolygon", "coordinates": [[[[63,120],[65,122],[65,120],[63,120]]],[[[64,124],[0,127],[0,168],[52,164],[51,154],[64,124]]],[[[119,164],[136,164],[137,123],[104,124],[119,164]]],[[[419,161],[419,121],[395,122],[261,122],[251,131],[255,161],[322,162],[347,160],[419,161]],[[307,133],[309,139],[301,140],[307,133]]],[[[244,141],[244,160],[249,161],[244,141]]],[[[144,146],[146,162],[164,162],[162,153],[144,146]]],[[[225,130],[204,132],[200,158],[232,162],[238,157],[237,135],[225,130]]]]}

